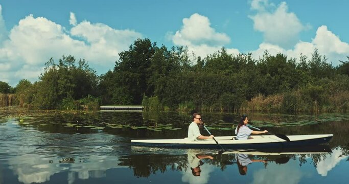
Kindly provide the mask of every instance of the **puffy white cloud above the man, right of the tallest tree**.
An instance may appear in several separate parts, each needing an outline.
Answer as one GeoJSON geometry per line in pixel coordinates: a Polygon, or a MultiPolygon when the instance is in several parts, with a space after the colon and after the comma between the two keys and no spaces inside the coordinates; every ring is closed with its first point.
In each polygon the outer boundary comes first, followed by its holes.
{"type": "MultiPolygon", "coordinates": [[[[211,27],[210,19],[194,13],[189,18],[183,18],[183,25],[175,34],[168,37],[175,45],[185,45],[198,56],[205,57],[220,50],[225,44],[230,43],[230,37],[219,33],[211,27]]],[[[238,54],[237,49],[227,49],[230,54],[238,54]]]]}

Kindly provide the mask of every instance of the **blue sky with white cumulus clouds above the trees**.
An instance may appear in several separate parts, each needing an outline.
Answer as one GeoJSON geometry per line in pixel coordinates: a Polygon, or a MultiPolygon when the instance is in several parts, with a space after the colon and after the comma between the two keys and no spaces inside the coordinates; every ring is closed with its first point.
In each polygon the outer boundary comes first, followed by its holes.
{"type": "Polygon", "coordinates": [[[187,46],[205,57],[230,54],[311,57],[337,66],[349,56],[349,1],[333,0],[0,0],[0,81],[16,86],[43,73],[50,58],[85,59],[99,75],[137,38],[187,46]]]}

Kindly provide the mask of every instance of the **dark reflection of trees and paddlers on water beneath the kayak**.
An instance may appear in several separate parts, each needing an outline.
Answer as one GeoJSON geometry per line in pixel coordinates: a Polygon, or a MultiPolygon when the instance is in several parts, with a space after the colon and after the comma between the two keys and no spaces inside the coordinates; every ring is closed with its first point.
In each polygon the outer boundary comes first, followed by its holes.
{"type": "MultiPolygon", "coordinates": [[[[298,150],[302,149],[305,149],[305,151],[308,152],[310,151],[306,148],[299,148],[298,150]]],[[[229,165],[239,166],[239,162],[240,165],[243,165],[241,164],[243,161],[242,158],[244,158],[245,161],[250,160],[250,162],[245,162],[244,166],[247,166],[247,164],[252,162],[262,162],[266,169],[270,163],[274,163],[273,165],[282,165],[287,164],[288,161],[292,159],[299,161],[299,167],[308,163],[310,160],[309,163],[312,164],[314,168],[317,168],[319,163],[323,163],[327,159],[329,160],[329,157],[332,156],[331,149],[327,146],[318,146],[312,149],[319,150],[313,150],[314,153],[306,153],[304,151],[304,153],[300,152],[299,154],[282,154],[280,151],[275,153],[270,151],[266,152],[265,155],[241,154],[242,156],[240,155],[240,157],[239,154],[230,154],[229,151],[227,154],[191,153],[190,151],[188,151],[187,155],[138,154],[119,158],[120,163],[118,165],[128,166],[128,168],[133,170],[134,176],[137,177],[149,177],[151,174],[155,174],[158,171],[164,173],[168,170],[184,172],[192,170],[193,175],[199,176],[202,168],[200,166],[202,166],[203,163],[224,171],[230,167],[229,165]],[[323,153],[321,153],[321,151],[323,153]]],[[[338,148],[338,150],[340,150],[340,148],[338,148]]],[[[292,150],[286,151],[291,152],[292,150]]]]}

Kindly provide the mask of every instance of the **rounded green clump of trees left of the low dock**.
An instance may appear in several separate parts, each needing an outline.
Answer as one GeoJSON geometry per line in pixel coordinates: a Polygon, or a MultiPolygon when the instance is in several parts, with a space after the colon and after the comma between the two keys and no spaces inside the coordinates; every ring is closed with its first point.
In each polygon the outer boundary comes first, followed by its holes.
{"type": "Polygon", "coordinates": [[[58,63],[51,58],[45,63],[44,73],[34,83],[32,105],[40,109],[77,109],[75,100],[97,95],[97,74],[84,59],[76,62],[69,55],[58,63]],[[77,65],[76,65],[77,64],[77,65]]]}

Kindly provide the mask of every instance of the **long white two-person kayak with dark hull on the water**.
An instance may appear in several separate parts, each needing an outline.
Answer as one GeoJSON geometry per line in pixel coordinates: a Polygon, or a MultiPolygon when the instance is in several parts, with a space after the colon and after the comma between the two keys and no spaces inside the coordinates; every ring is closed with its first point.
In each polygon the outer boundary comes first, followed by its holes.
{"type": "MultiPolygon", "coordinates": [[[[333,134],[287,135],[290,141],[275,135],[252,135],[250,136],[252,139],[248,140],[235,140],[235,137],[215,136],[215,139],[224,149],[288,148],[328,143],[333,134]]],[[[213,139],[194,141],[188,137],[184,139],[131,140],[131,145],[164,148],[221,148],[213,139]]]]}

